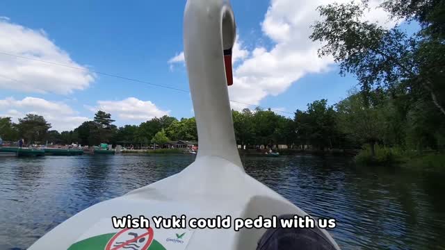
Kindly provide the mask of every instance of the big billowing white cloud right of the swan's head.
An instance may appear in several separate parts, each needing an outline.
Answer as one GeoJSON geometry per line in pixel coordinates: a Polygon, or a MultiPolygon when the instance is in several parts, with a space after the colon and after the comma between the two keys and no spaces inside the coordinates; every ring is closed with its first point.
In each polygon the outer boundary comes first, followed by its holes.
{"type": "MultiPolygon", "coordinates": [[[[336,0],[339,3],[349,1],[336,0]]],[[[257,46],[247,51],[240,43],[239,48],[242,49],[236,51],[234,48],[234,58],[240,62],[234,69],[234,85],[229,88],[230,99],[259,105],[268,95],[282,94],[307,74],[330,71],[334,63],[332,58],[318,58],[320,44],[309,40],[309,35],[312,33],[310,26],[320,19],[316,8],[332,2],[271,0],[264,21],[261,22],[261,31],[273,42],[273,47],[266,49],[257,46]],[[242,56],[237,58],[238,53],[242,56]]],[[[394,22],[387,22],[387,12],[376,8],[381,2],[370,0],[371,11],[366,13],[366,19],[383,26],[394,26],[394,22]]],[[[235,109],[248,107],[232,102],[232,108],[235,109]]]]}

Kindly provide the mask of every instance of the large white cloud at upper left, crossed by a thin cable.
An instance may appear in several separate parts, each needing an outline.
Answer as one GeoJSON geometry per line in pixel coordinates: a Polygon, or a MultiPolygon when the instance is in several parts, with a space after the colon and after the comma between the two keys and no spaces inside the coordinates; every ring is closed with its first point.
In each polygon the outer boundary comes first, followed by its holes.
{"type": "MultiPolygon", "coordinates": [[[[86,69],[43,30],[13,24],[7,17],[0,17],[0,52],[86,69]]],[[[69,94],[88,88],[94,80],[95,75],[84,70],[0,54],[0,89],[69,94]]]]}

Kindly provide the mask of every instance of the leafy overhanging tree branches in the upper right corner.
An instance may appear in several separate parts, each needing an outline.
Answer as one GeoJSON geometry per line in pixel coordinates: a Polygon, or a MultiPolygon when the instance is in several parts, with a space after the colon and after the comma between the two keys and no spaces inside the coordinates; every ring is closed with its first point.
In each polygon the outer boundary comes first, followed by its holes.
{"type": "MultiPolygon", "coordinates": [[[[435,5],[439,6],[435,10],[421,7],[417,11],[412,10],[413,6],[409,4],[403,6],[408,2],[427,3],[398,0],[387,4],[387,8],[400,15],[419,14],[419,19],[428,19],[435,11],[443,13],[445,8],[442,2],[435,5]]],[[[312,26],[314,31],[310,38],[325,42],[318,51],[319,56],[333,56],[335,62],[340,63],[341,74],[348,72],[357,76],[363,92],[370,92],[373,88],[391,90],[404,85],[413,96],[428,98],[445,115],[445,88],[442,84],[445,77],[444,40],[426,35],[428,32],[408,36],[398,26],[387,30],[378,24],[363,22],[361,17],[365,8],[366,5],[355,3],[318,7],[325,19],[312,26]]],[[[443,27],[443,24],[438,25],[443,27]]],[[[367,105],[367,100],[364,101],[367,105]]]]}

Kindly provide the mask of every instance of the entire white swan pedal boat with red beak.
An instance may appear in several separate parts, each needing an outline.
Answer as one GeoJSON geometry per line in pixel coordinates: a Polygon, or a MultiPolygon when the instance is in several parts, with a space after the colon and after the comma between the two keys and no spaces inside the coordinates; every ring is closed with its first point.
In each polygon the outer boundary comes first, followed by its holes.
{"type": "MultiPolygon", "coordinates": [[[[200,142],[195,162],[178,174],[81,211],[49,231],[30,250],[256,249],[266,228],[116,229],[111,218],[307,215],[244,172],[227,90],[227,85],[232,85],[235,35],[228,1],[187,1],[184,53],[200,142]]],[[[339,249],[327,231],[321,232],[339,249]]]]}

